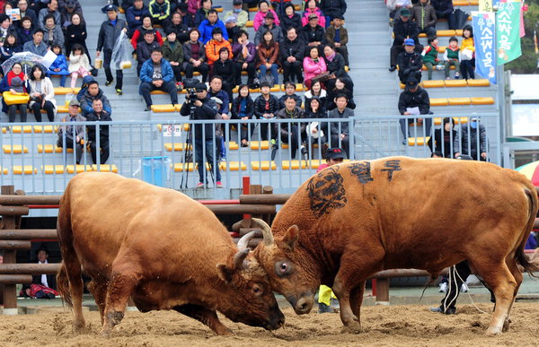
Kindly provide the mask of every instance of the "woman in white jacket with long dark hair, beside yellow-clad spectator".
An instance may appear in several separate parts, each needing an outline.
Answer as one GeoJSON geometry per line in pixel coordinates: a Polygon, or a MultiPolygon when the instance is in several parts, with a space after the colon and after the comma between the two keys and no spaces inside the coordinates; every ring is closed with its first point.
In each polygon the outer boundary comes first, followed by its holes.
{"type": "Polygon", "coordinates": [[[54,116],[57,112],[54,86],[40,65],[34,65],[31,68],[30,86],[30,108],[33,110],[36,121],[41,121],[41,109],[44,109],[47,112],[49,122],[54,122],[54,116]]]}

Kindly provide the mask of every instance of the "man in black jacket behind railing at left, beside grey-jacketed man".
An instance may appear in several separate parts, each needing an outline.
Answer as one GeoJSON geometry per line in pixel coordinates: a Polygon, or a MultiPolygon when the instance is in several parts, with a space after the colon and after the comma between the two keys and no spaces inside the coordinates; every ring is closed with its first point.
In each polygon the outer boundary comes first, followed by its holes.
{"type": "MultiPolygon", "coordinates": [[[[86,116],[88,122],[111,122],[110,113],[103,109],[101,99],[95,99],[92,102],[93,112],[86,116]]],[[[99,157],[100,164],[104,164],[109,159],[109,126],[99,126],[99,134],[97,134],[97,126],[88,126],[88,142],[90,143],[90,152],[92,152],[92,160],[97,164],[97,152],[101,153],[99,157]],[[99,135],[99,143],[97,136],[99,135]],[[99,147],[98,147],[99,144],[99,147]]]]}

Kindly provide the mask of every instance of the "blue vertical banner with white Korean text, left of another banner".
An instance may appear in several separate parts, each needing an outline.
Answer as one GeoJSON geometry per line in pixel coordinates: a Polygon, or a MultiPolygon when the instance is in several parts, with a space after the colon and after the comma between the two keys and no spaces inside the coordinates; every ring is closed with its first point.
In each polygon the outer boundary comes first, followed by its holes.
{"type": "Polygon", "coordinates": [[[472,12],[475,45],[475,74],[496,84],[496,54],[494,51],[494,13],[472,12]]]}

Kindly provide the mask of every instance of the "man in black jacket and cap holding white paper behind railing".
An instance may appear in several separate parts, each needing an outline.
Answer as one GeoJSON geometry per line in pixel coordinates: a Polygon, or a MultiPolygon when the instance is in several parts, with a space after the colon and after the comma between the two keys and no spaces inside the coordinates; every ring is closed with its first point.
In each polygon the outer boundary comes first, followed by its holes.
{"type": "MultiPolygon", "coordinates": [[[[418,80],[411,77],[406,82],[406,87],[402,91],[401,96],[399,96],[399,112],[401,115],[417,115],[418,112],[420,115],[429,115],[430,112],[430,100],[429,93],[422,89],[419,85],[418,80]]],[[[422,118],[402,118],[399,119],[401,124],[402,135],[404,140],[402,144],[407,143],[408,137],[410,137],[410,131],[408,126],[411,123],[418,123],[422,121],[422,118]]],[[[417,129],[418,136],[430,136],[430,128],[432,126],[432,118],[425,118],[423,121],[424,127],[417,129]]]]}

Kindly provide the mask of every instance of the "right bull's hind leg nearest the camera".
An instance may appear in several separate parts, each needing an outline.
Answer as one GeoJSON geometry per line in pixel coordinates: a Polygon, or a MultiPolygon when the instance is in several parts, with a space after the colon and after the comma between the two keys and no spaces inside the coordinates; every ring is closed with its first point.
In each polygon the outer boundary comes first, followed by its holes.
{"type": "MultiPolygon", "coordinates": [[[[499,259],[499,258],[498,258],[499,259]]],[[[518,289],[517,281],[509,271],[505,262],[499,263],[493,256],[481,259],[471,259],[473,265],[483,280],[494,291],[496,297],[496,308],[490,318],[490,325],[487,334],[500,334],[503,325],[508,319],[508,311],[512,305],[515,293],[518,289]]]]}

